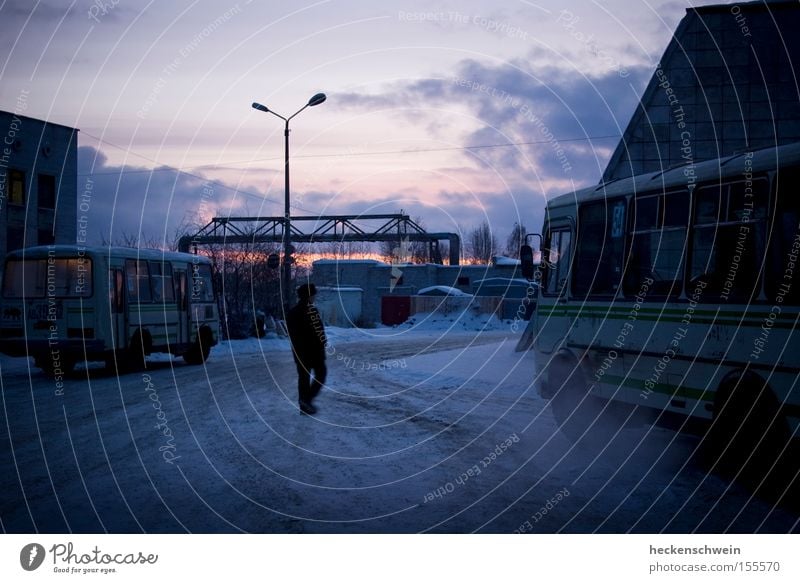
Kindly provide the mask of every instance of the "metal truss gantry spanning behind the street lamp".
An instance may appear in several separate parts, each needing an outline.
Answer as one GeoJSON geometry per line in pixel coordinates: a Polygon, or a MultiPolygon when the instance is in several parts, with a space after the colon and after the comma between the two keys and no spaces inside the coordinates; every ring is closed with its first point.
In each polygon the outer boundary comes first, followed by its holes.
{"type": "MultiPolygon", "coordinates": [[[[461,239],[455,233],[428,233],[406,214],[386,215],[322,215],[290,217],[290,235],[297,243],[348,243],[422,241],[428,244],[431,263],[442,263],[439,241],[450,243],[450,265],[460,261],[461,239]],[[363,223],[378,223],[369,229],[363,223]],[[298,225],[309,225],[301,229],[298,225]]],[[[194,235],[181,237],[178,246],[183,252],[201,245],[226,243],[280,243],[283,241],[284,217],[214,217],[194,235]]],[[[402,248],[402,247],[401,247],[402,248]]]]}

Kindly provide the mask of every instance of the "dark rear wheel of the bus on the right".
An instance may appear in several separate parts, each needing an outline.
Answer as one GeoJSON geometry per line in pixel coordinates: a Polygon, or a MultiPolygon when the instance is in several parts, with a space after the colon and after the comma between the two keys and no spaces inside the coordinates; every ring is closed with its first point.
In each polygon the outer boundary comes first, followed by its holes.
{"type": "Polygon", "coordinates": [[[712,471],[765,494],[783,493],[798,471],[791,448],[786,416],[760,378],[738,376],[720,387],[701,444],[712,471]]]}

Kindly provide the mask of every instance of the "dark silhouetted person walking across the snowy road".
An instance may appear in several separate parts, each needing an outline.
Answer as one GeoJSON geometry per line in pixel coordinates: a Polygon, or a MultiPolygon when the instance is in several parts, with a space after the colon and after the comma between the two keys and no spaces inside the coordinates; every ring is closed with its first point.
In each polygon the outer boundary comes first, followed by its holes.
{"type": "Polygon", "coordinates": [[[325,384],[325,326],[314,306],[317,288],[313,283],[297,288],[299,301],[289,310],[286,328],[292,343],[292,355],[297,365],[297,395],[300,411],[308,415],[317,412],[312,401],[325,384]]]}

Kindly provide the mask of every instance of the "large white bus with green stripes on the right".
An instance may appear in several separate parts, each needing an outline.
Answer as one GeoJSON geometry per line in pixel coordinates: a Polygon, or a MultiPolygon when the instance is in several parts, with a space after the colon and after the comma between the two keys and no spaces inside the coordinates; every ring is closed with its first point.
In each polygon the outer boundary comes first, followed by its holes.
{"type": "Polygon", "coordinates": [[[567,437],[644,413],[720,469],[797,471],[799,188],[793,143],[547,203],[532,350],[567,437]]]}

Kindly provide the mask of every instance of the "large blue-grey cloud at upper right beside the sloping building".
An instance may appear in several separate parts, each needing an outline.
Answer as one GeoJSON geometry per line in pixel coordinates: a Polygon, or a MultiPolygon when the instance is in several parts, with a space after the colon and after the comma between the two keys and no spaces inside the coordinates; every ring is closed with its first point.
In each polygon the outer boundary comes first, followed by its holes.
{"type": "Polygon", "coordinates": [[[394,111],[437,134],[442,108],[467,111],[478,126],[462,136],[471,163],[541,192],[565,179],[596,182],[650,78],[649,67],[605,66],[587,75],[564,66],[534,67],[541,51],[530,52],[503,64],[463,60],[448,77],[394,83],[338,101],[346,109],[394,111]],[[499,146],[509,143],[520,145],[499,146]]]}

